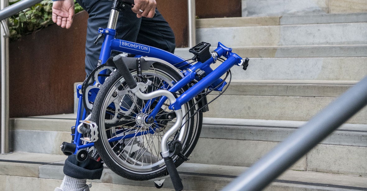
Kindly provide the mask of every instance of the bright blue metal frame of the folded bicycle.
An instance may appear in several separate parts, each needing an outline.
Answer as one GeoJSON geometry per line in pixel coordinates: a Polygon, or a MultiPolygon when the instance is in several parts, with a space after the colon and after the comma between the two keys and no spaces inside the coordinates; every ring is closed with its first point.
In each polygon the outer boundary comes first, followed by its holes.
{"type": "MultiPolygon", "coordinates": [[[[195,83],[195,85],[190,87],[187,91],[182,93],[181,96],[179,96],[176,99],[176,102],[174,102],[173,104],[169,106],[169,109],[171,110],[180,109],[183,104],[193,99],[195,96],[197,96],[197,94],[199,94],[206,88],[216,87],[217,85],[219,85],[222,82],[222,79],[220,79],[220,77],[224,75],[231,67],[233,67],[234,65],[243,64],[243,59],[239,55],[237,55],[236,53],[233,53],[231,48],[227,48],[220,42],[218,42],[218,47],[212,52],[210,59],[204,61],[203,63],[198,61],[195,65],[193,65],[193,64],[190,64],[189,61],[185,61],[185,59],[177,55],[174,55],[170,52],[167,52],[167,51],[164,51],[164,50],[152,47],[152,46],[147,46],[147,45],[138,44],[135,42],[129,42],[129,41],[116,39],[115,38],[116,30],[113,28],[115,27],[112,26],[111,28],[106,28],[106,29],[100,28],[98,30],[98,33],[100,35],[104,35],[101,54],[99,56],[99,63],[106,63],[106,61],[109,59],[111,55],[112,50],[115,50],[118,52],[130,53],[130,54],[136,55],[135,57],[148,56],[148,57],[154,57],[154,58],[164,60],[167,63],[173,64],[174,67],[181,70],[182,74],[184,75],[184,77],[181,80],[179,80],[177,83],[175,83],[172,87],[168,89],[168,91],[171,91],[171,92],[176,92],[180,90],[182,87],[186,86],[188,83],[192,82],[193,80],[198,80],[196,71],[201,70],[205,72],[205,75],[202,79],[200,79],[197,83],[195,83]],[[215,63],[217,59],[221,56],[226,57],[226,60],[221,65],[219,65],[215,70],[212,70],[210,68],[210,64],[215,63]]],[[[100,80],[100,82],[101,81],[103,82],[103,80],[100,80]]],[[[225,84],[226,82],[224,82],[222,86],[218,87],[216,90],[221,91],[222,88],[225,86],[225,84]]],[[[86,111],[84,110],[83,113],[81,112],[83,110],[82,109],[83,108],[83,103],[82,103],[83,96],[82,94],[79,93],[81,88],[82,88],[81,85],[77,86],[77,92],[78,92],[77,96],[79,98],[77,122],[76,122],[76,126],[72,127],[74,128],[72,132],[75,132],[74,134],[72,134],[74,138],[73,143],[76,145],[76,150],[74,154],[76,154],[77,151],[80,149],[85,149],[85,148],[94,146],[93,142],[82,144],[80,140],[82,138],[82,134],[80,134],[78,131],[75,130],[75,128],[78,127],[80,124],[79,120],[84,120],[86,118],[86,111]]],[[[92,97],[92,99],[94,99],[94,97],[92,97]]],[[[150,113],[148,118],[153,117],[153,119],[155,119],[155,116],[157,115],[159,109],[161,108],[161,106],[164,104],[166,100],[167,100],[167,97],[165,96],[161,97],[158,104],[155,106],[155,109],[153,109],[152,113],[150,113]]],[[[94,101],[94,100],[90,100],[90,101],[94,101]]],[[[140,134],[137,134],[135,136],[145,135],[148,133],[154,134],[154,132],[155,132],[154,129],[150,129],[150,130],[146,130],[143,132],[139,132],[140,134]]],[[[130,137],[128,136],[124,137],[124,139],[127,139],[127,138],[130,138],[130,137]]],[[[120,139],[121,138],[116,137],[109,141],[114,142],[120,139]]]]}

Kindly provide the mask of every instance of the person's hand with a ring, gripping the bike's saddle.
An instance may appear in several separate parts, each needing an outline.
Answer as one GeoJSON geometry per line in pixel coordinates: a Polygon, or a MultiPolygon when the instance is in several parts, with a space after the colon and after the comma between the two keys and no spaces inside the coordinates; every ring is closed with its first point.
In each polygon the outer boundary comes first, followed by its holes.
{"type": "Polygon", "coordinates": [[[134,7],[131,10],[137,14],[138,18],[142,16],[153,18],[156,12],[156,5],[156,0],[134,0],[134,7]]]}

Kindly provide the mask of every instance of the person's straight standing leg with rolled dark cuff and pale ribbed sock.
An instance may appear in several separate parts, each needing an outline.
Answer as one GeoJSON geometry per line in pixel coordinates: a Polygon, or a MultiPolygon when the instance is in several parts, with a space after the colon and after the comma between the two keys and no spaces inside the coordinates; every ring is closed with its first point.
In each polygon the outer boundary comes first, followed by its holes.
{"type": "MultiPolygon", "coordinates": [[[[102,40],[94,45],[98,36],[98,27],[106,27],[112,1],[108,0],[77,0],[78,3],[88,12],[87,40],[86,40],[86,73],[89,75],[98,64],[99,53],[101,51],[102,40]]],[[[119,14],[119,23],[117,24],[118,38],[128,41],[136,41],[141,19],[127,8],[126,11],[119,14]]],[[[75,155],[69,156],[65,160],[63,179],[61,189],[80,190],[80,186],[86,185],[86,179],[100,179],[103,171],[101,162],[87,159],[84,162],[76,160],[75,155]],[[79,187],[78,187],[79,186],[79,187]]]]}

